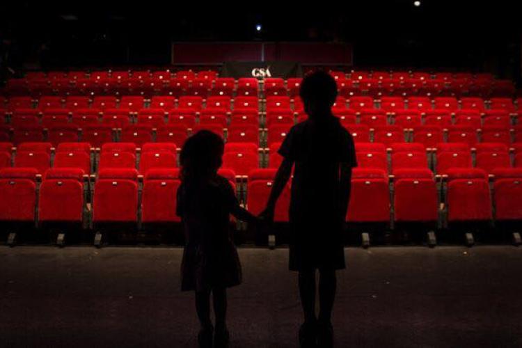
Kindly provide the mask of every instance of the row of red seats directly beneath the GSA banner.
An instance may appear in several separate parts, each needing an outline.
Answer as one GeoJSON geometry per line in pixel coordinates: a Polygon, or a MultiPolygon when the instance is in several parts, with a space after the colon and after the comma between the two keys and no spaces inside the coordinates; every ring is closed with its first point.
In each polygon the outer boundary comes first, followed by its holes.
{"type": "MultiPolygon", "coordinates": [[[[361,77],[361,76],[359,76],[361,77]]],[[[374,97],[383,95],[479,95],[512,97],[515,87],[509,80],[475,79],[419,79],[388,78],[346,79],[335,76],[340,95],[368,94],[374,97]]],[[[258,80],[251,77],[223,77],[187,79],[180,77],[164,79],[160,77],[100,77],[90,79],[11,79],[6,86],[10,95],[63,94],[100,95],[103,93],[126,95],[157,95],[161,92],[170,95],[258,95],[294,97],[299,95],[301,78],[267,78],[258,80]]]]}

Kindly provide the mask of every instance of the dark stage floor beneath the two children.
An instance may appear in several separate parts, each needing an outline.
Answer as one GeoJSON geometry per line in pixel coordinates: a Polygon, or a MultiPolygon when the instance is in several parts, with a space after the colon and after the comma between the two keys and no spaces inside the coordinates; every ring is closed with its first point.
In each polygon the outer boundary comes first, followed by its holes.
{"type": "MultiPolygon", "coordinates": [[[[296,347],[287,249],[242,248],[231,347],[296,347]]],[[[195,347],[180,248],[0,247],[0,347],[195,347]]],[[[347,249],[336,347],[522,347],[522,248],[347,249]]]]}

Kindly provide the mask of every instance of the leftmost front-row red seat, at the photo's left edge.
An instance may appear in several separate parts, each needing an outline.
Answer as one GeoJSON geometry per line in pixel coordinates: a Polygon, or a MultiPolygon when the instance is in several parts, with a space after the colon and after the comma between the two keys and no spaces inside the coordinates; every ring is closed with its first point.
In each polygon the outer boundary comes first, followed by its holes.
{"type": "Polygon", "coordinates": [[[0,221],[34,221],[35,168],[0,169],[0,221]]]}

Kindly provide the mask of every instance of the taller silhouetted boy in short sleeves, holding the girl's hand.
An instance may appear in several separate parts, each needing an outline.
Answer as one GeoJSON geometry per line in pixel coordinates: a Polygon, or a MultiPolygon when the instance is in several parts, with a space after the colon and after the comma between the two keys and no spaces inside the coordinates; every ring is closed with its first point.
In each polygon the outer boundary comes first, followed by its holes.
{"type": "Polygon", "coordinates": [[[284,157],[267,208],[274,207],[295,165],[290,200],[290,270],[299,271],[304,323],[301,347],[332,347],[331,312],[335,299],[335,270],[345,268],[342,229],[350,196],[351,168],[356,166],[351,134],[333,116],[335,80],[326,72],[303,79],[300,90],[308,120],[290,129],[279,149],[284,157]],[[319,269],[319,318],[315,316],[315,270],[319,269]]]}

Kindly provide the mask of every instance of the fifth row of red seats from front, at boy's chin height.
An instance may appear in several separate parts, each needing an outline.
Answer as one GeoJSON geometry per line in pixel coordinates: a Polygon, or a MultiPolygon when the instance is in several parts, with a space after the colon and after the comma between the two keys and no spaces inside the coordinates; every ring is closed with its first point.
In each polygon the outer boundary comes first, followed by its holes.
{"type": "MultiPolygon", "coordinates": [[[[154,96],[150,101],[145,100],[143,96],[123,96],[119,100],[116,96],[96,96],[91,100],[90,97],[83,96],[42,96],[38,101],[33,98],[11,97],[9,100],[0,97],[0,111],[13,112],[16,109],[38,109],[40,112],[47,109],[68,109],[69,111],[95,109],[104,111],[106,109],[129,109],[129,111],[139,111],[148,106],[150,109],[193,109],[193,111],[201,111],[202,109],[260,109],[260,104],[264,109],[283,109],[294,110],[296,112],[303,111],[303,103],[298,97],[292,100],[290,97],[272,96],[260,103],[258,97],[232,97],[228,96],[212,96],[204,99],[199,96],[182,96],[175,98],[168,95],[154,96]]],[[[374,100],[372,97],[354,95],[348,98],[339,96],[333,105],[333,109],[353,109],[361,111],[363,109],[381,109],[387,113],[394,113],[405,109],[430,111],[432,109],[448,110],[456,112],[459,110],[475,110],[479,112],[491,110],[505,110],[509,113],[516,113],[521,105],[522,99],[512,100],[511,98],[491,98],[491,100],[483,100],[480,97],[462,97],[460,100],[456,97],[382,97],[380,100],[374,100]]]]}

